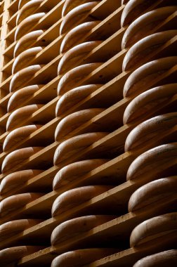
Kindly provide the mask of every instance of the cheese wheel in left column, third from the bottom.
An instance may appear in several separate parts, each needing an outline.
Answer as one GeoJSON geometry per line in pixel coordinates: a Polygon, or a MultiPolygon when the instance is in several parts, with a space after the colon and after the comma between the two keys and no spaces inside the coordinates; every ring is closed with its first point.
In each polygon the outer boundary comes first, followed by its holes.
{"type": "Polygon", "coordinates": [[[41,197],[41,193],[22,193],[18,195],[11,195],[11,197],[6,197],[0,202],[0,214],[5,216],[11,213],[15,209],[20,209],[24,207],[27,203],[37,200],[41,197]]]}

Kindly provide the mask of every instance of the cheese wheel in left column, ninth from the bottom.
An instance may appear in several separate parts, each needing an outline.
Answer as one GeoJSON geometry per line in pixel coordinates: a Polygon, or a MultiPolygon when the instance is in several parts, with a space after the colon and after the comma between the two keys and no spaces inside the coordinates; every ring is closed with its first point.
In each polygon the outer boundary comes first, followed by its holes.
{"type": "Polygon", "coordinates": [[[10,82],[10,92],[22,88],[22,84],[28,82],[39,70],[41,70],[41,65],[32,65],[15,73],[10,82]]]}

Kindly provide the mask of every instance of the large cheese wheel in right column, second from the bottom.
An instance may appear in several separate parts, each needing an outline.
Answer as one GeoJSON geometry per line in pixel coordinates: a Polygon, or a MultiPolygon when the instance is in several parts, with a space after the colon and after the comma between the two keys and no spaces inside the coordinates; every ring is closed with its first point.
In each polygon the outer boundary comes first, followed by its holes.
{"type": "MultiPolygon", "coordinates": [[[[169,232],[177,233],[177,212],[163,214],[140,223],[133,229],[130,237],[131,247],[140,247],[146,242],[155,242],[169,232]]],[[[177,235],[176,235],[177,238],[177,235]]],[[[162,242],[162,241],[161,241],[162,242]]]]}

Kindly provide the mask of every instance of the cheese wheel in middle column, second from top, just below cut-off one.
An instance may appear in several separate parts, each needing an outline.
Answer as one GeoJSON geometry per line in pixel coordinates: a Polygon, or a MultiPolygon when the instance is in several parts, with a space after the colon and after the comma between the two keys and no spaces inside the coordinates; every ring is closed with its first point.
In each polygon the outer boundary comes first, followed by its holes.
{"type": "Polygon", "coordinates": [[[91,9],[94,8],[98,3],[98,1],[93,1],[81,4],[73,8],[69,13],[67,13],[60,25],[60,35],[65,34],[74,26],[76,26],[77,23],[81,20],[81,18],[89,14],[91,9]]]}

